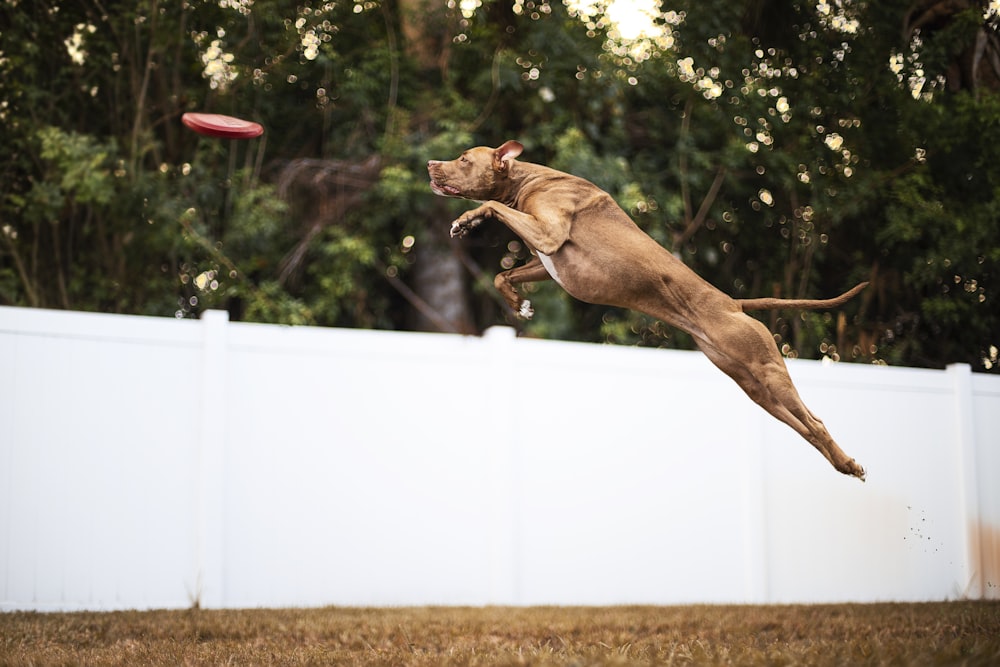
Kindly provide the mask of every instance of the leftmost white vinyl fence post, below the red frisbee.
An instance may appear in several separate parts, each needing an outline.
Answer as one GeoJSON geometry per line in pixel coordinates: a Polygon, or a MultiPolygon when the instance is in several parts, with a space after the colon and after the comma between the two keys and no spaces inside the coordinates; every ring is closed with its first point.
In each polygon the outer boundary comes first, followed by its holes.
{"type": "Polygon", "coordinates": [[[195,604],[218,608],[225,604],[225,446],[227,325],[229,313],[207,310],[201,315],[201,422],[198,460],[198,562],[195,604]]]}

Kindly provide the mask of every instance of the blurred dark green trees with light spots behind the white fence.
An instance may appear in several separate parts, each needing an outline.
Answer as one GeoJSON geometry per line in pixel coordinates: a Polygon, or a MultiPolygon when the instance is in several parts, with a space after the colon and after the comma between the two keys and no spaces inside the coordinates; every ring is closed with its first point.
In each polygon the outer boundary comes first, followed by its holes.
{"type": "MultiPolygon", "coordinates": [[[[499,225],[428,159],[517,139],[788,357],[997,371],[1000,3],[4,0],[0,305],[479,333],[499,225]],[[207,139],[186,111],[258,121],[207,139]]],[[[528,335],[689,348],[533,287],[528,335]]]]}

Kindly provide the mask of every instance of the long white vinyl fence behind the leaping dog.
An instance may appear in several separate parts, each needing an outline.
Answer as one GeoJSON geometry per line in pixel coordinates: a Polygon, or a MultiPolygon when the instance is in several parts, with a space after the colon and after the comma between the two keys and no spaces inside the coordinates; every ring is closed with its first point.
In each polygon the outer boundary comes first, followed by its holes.
{"type": "Polygon", "coordinates": [[[1000,598],[1000,377],[0,308],[0,609],[1000,598]]]}

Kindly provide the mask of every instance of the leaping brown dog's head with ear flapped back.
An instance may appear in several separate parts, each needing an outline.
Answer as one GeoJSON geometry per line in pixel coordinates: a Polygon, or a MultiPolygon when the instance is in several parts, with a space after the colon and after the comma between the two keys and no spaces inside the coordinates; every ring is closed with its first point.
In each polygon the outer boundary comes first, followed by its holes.
{"type": "Polygon", "coordinates": [[[461,197],[476,201],[500,198],[510,175],[510,166],[524,146],[508,141],[499,148],[470,148],[458,158],[442,162],[430,160],[427,173],[431,190],[443,197],[461,197]]]}

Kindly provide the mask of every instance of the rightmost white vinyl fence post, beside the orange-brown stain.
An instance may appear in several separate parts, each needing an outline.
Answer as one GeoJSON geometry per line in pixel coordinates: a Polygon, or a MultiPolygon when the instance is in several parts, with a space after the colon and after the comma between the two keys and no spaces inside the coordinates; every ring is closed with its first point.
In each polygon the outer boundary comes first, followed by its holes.
{"type": "Polygon", "coordinates": [[[979,484],[976,479],[976,419],[972,406],[972,367],[969,364],[950,364],[953,406],[955,410],[956,454],[959,463],[959,482],[965,522],[965,558],[959,572],[959,581],[965,584],[964,597],[982,599],[983,578],[982,535],[979,521],[979,484]]]}

